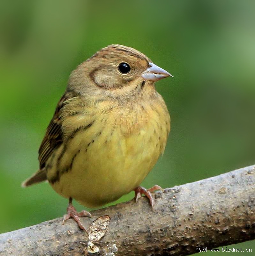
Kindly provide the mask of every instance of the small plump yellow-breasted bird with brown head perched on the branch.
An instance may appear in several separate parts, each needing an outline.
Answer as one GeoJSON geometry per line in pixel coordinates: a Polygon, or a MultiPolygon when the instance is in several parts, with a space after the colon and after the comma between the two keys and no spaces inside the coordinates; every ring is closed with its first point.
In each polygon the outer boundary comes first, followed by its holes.
{"type": "Polygon", "coordinates": [[[39,171],[23,187],[48,180],[69,198],[64,221],[86,231],[72,198],[87,207],[115,201],[130,191],[151,192],[141,182],[164,152],[170,116],[154,83],[172,76],[143,53],[113,44],[81,63],[68,81],[39,149],[39,171]]]}

